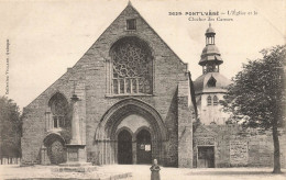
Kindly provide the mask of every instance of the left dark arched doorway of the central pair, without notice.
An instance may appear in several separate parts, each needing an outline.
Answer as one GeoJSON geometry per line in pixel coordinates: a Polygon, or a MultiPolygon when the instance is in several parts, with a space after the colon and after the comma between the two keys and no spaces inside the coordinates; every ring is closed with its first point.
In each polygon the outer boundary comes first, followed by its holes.
{"type": "Polygon", "coordinates": [[[132,164],[132,136],[125,130],[118,135],[118,164],[132,164]]]}

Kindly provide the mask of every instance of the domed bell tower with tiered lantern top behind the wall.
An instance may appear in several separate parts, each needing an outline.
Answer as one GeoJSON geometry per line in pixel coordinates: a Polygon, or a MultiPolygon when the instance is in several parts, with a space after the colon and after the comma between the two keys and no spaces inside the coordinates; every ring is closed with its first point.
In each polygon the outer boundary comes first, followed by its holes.
{"type": "Polygon", "coordinates": [[[223,60],[215,44],[216,32],[211,24],[205,35],[206,47],[202,49],[199,60],[202,75],[194,82],[198,115],[202,124],[224,124],[229,114],[222,111],[219,101],[223,100],[231,81],[220,74],[220,65],[223,60]]]}

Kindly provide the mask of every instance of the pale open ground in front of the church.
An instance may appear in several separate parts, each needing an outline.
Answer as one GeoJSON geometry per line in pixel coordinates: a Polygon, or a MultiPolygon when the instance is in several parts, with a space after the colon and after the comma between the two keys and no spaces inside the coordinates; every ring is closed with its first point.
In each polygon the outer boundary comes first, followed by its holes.
{"type": "MultiPolygon", "coordinates": [[[[150,180],[150,166],[144,165],[112,165],[99,167],[98,171],[92,173],[75,172],[51,172],[52,166],[0,166],[1,179],[106,179],[108,176],[132,172],[129,180],[150,180]]],[[[273,175],[271,168],[218,168],[218,169],[178,169],[164,168],[161,170],[162,180],[286,180],[286,173],[273,175]]],[[[283,169],[286,172],[286,169],[283,169]]]]}

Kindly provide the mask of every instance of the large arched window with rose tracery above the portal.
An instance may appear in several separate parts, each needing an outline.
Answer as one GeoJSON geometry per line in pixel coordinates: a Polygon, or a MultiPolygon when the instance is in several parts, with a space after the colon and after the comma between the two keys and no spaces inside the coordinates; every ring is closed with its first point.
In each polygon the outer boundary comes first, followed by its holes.
{"type": "Polygon", "coordinates": [[[152,93],[152,55],[147,44],[124,37],[111,48],[114,94],[152,93]]]}

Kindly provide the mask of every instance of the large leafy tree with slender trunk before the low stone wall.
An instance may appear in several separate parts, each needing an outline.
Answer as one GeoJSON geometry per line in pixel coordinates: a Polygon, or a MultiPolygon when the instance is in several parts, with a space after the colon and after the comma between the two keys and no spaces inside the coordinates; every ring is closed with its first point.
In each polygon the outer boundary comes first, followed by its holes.
{"type": "Polygon", "coordinates": [[[280,173],[278,127],[285,120],[285,65],[286,46],[263,49],[263,57],[243,65],[242,71],[224,97],[224,110],[232,113],[232,121],[246,127],[272,130],[274,144],[274,173],[280,173]]]}

